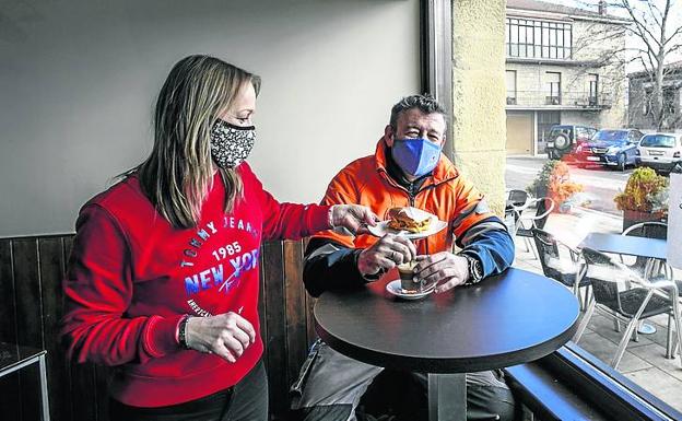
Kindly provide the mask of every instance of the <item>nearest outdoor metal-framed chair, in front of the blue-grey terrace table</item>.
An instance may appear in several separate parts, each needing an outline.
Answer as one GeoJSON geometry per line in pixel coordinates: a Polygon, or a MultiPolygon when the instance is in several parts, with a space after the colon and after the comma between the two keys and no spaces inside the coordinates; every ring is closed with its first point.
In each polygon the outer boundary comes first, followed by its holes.
{"type": "MultiPolygon", "coordinates": [[[[666,354],[669,355],[673,342],[673,320],[678,342],[682,338],[678,303],[679,292],[674,282],[649,282],[614,258],[591,248],[583,248],[583,257],[586,269],[581,271],[581,278],[590,282],[592,299],[574,336],[574,342],[577,343],[580,340],[596,308],[605,316],[625,323],[627,327],[615,355],[611,360],[611,366],[618,369],[627,342],[630,342],[639,320],[667,314],[668,343],[666,354]]],[[[682,350],[680,350],[680,356],[682,360],[682,350]]]]}

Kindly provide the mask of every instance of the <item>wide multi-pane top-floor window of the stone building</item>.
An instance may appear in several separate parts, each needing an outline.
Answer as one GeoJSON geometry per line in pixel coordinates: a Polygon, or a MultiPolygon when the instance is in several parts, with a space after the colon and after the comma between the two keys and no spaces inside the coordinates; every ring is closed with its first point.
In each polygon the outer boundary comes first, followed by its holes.
{"type": "Polygon", "coordinates": [[[507,17],[507,56],[569,59],[573,27],[569,23],[507,17]]]}

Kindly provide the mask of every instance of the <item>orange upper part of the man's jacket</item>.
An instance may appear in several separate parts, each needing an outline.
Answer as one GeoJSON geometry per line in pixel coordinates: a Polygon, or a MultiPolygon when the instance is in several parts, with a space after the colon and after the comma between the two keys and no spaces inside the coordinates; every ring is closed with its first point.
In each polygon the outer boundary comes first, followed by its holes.
{"type": "MultiPolygon", "coordinates": [[[[438,165],[416,191],[409,191],[396,183],[387,173],[387,145],[384,138],[377,143],[374,155],[361,157],[345,166],[331,180],[322,204],[360,203],[369,207],[380,219],[388,219],[387,211],[393,207],[423,209],[448,222],[448,227],[438,234],[414,241],[419,254],[434,254],[451,250],[457,238],[469,227],[494,217],[483,195],[466,179],[443,153],[438,165]]],[[[348,236],[334,231],[325,231],[315,238],[327,238],[349,248],[366,248],[378,238],[372,235],[348,236]]],[[[465,242],[466,243],[466,242],[465,242]]]]}

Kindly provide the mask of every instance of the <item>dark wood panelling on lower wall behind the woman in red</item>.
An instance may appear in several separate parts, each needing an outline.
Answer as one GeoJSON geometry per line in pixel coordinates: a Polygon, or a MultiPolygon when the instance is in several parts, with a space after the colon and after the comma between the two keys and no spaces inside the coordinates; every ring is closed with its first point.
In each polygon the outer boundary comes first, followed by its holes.
{"type": "MultiPolygon", "coordinates": [[[[270,383],[270,412],[284,419],[289,386],[314,337],[313,300],[303,286],[304,242],[269,242],[260,254],[260,324],[270,383]]],[[[66,360],[59,342],[63,277],[73,235],[0,238],[0,341],[46,349],[50,417],[108,421],[106,383],[111,371],[66,360]]],[[[38,418],[36,367],[0,378],[1,419],[38,418]]]]}

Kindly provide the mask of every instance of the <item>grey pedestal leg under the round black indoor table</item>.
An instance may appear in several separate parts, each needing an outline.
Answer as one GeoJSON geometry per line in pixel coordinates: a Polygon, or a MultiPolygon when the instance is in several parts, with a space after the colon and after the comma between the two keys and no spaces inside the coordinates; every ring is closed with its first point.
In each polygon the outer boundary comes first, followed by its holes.
{"type": "Polygon", "coordinates": [[[467,421],[466,374],[428,374],[428,421],[467,421]]]}

